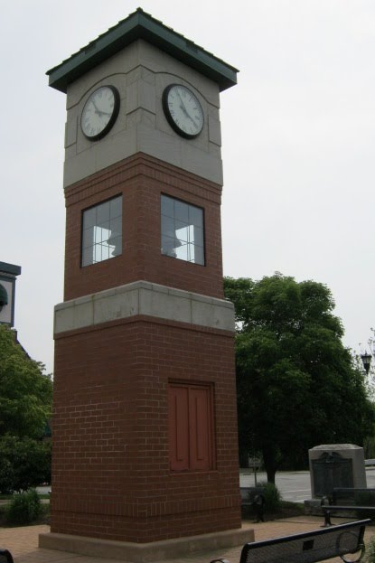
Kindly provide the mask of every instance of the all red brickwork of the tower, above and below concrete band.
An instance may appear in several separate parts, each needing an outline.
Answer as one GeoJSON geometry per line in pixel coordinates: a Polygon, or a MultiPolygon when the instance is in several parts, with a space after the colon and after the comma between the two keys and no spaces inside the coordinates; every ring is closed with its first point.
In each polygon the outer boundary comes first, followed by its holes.
{"type": "MultiPolygon", "coordinates": [[[[220,185],[137,154],[65,196],[65,301],[138,280],[223,297],[220,185]],[[161,254],[162,193],[204,209],[204,266],[161,254]],[[80,267],[82,211],[118,194],[122,254],[80,267]]],[[[151,542],[240,528],[233,333],[137,315],[56,334],[53,408],[52,532],[151,542]],[[176,380],[213,387],[210,471],[170,471],[176,380]]]]}

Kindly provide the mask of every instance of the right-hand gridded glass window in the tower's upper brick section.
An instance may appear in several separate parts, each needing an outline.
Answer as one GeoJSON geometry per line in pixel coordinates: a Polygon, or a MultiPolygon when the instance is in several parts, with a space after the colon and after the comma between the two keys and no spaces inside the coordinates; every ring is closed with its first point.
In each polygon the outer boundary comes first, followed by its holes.
{"type": "Polygon", "coordinates": [[[204,265],[203,210],[162,195],[162,254],[204,265]]]}

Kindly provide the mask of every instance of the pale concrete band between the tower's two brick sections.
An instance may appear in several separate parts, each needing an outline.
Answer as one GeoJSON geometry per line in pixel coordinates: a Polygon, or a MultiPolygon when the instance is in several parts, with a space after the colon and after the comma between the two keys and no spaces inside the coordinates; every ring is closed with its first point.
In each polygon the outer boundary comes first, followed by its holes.
{"type": "Polygon", "coordinates": [[[234,332],[234,307],[229,301],[137,281],[56,305],[54,333],[138,314],[234,332]]]}

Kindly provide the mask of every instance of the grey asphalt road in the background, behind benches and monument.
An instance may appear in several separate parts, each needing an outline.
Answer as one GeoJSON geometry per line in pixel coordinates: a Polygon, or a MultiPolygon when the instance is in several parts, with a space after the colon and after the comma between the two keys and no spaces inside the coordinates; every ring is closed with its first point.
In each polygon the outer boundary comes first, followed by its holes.
{"type": "MultiPolygon", "coordinates": [[[[366,468],[367,486],[375,488],[375,467],[366,468]]],[[[257,472],[257,483],[267,481],[265,473],[257,472]]],[[[252,469],[241,470],[239,474],[241,487],[253,487],[255,484],[252,469]]],[[[276,474],[276,484],[284,501],[304,502],[311,499],[310,472],[308,471],[280,471],[276,474]]]]}

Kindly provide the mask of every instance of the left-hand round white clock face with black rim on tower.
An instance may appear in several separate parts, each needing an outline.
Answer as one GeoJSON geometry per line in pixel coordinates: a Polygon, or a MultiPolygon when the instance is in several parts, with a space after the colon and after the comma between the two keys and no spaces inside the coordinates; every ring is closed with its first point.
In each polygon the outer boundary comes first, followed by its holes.
{"type": "Polygon", "coordinates": [[[119,107],[120,97],[114,86],[101,86],[92,92],[80,117],[83,135],[91,141],[107,135],[117,119],[119,107]]]}

